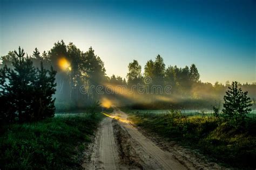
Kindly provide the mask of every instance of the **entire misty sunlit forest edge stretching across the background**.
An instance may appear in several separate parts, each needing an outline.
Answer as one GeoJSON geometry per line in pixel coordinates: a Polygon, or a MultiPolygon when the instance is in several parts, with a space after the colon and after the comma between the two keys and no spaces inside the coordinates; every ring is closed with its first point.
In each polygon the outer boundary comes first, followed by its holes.
{"type": "MultiPolygon", "coordinates": [[[[1,68],[6,65],[13,68],[12,62],[15,60],[14,51],[2,56],[1,68]]],[[[119,107],[133,107],[137,109],[211,109],[213,105],[221,105],[225,91],[230,86],[230,82],[221,84],[215,82],[211,84],[200,81],[200,74],[196,65],[178,68],[177,66],[167,66],[160,55],[156,59],[149,60],[142,66],[137,60],[129,63],[129,73],[126,79],[120,76],[106,75],[104,62],[95,54],[92,47],[88,51],[80,51],[72,42],[68,45],[64,41],[58,41],[48,52],[40,53],[37,48],[32,56],[29,56],[35,67],[40,68],[41,62],[46,69],[51,66],[57,71],[56,74],[56,97],[55,105],[57,111],[70,111],[73,109],[85,109],[93,103],[100,101],[104,107],[115,104],[119,107]],[[150,80],[147,79],[150,77],[150,80]],[[138,87],[140,84],[142,87],[138,87]],[[112,88],[114,93],[99,94],[81,93],[81,87],[90,91],[90,87],[127,87],[133,89],[132,93],[122,93],[123,89],[112,88]],[[135,86],[135,88],[134,88],[135,86]],[[171,86],[171,93],[159,94],[152,86],[171,86]],[[149,93],[139,93],[143,90],[149,93]]],[[[238,83],[244,91],[248,91],[248,97],[252,99],[255,107],[256,82],[252,84],[238,83]]],[[[255,108],[253,108],[255,109],[255,108]]]]}

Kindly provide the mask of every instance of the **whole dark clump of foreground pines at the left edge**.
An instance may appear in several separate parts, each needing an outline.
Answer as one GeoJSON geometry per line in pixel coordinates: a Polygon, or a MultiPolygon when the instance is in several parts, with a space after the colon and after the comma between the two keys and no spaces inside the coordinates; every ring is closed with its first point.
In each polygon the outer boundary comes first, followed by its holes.
{"type": "Polygon", "coordinates": [[[32,59],[19,47],[12,65],[14,69],[4,67],[1,72],[1,101],[10,108],[1,109],[3,122],[37,121],[54,115],[55,106],[52,95],[55,94],[56,72],[33,67],[32,59]]]}

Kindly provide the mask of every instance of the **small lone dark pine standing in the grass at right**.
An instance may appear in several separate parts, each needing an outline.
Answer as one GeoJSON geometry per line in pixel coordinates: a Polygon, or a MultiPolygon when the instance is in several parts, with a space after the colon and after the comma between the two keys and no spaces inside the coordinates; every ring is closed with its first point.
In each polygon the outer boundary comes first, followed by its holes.
{"type": "Polygon", "coordinates": [[[247,91],[242,91],[238,88],[237,82],[232,82],[232,87],[228,87],[224,96],[223,114],[227,121],[234,126],[239,126],[244,123],[246,114],[252,109],[250,97],[247,97],[247,91]]]}

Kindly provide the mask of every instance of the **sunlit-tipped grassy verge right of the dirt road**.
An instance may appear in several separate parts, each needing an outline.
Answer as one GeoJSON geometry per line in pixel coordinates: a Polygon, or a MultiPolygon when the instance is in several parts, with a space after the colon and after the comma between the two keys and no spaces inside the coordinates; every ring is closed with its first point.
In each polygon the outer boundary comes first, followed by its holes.
{"type": "Polygon", "coordinates": [[[234,168],[256,167],[256,121],[235,130],[213,116],[130,114],[129,119],[148,132],[195,148],[215,162],[234,168]]]}

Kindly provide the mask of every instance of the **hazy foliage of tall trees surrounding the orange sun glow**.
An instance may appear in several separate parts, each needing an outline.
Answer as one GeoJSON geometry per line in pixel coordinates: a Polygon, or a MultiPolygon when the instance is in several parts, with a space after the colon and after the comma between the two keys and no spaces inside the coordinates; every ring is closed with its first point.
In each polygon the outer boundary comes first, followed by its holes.
{"type": "Polygon", "coordinates": [[[98,100],[95,93],[83,95],[79,91],[82,86],[96,87],[105,81],[104,63],[92,47],[87,52],[82,52],[72,42],[65,45],[62,40],[50,49],[49,60],[53,63],[53,68],[59,70],[56,76],[59,86],[56,94],[58,102],[70,105],[72,101],[72,108],[82,109],[98,100]],[[59,69],[58,60],[61,58],[70,62],[69,70],[59,69]]]}

